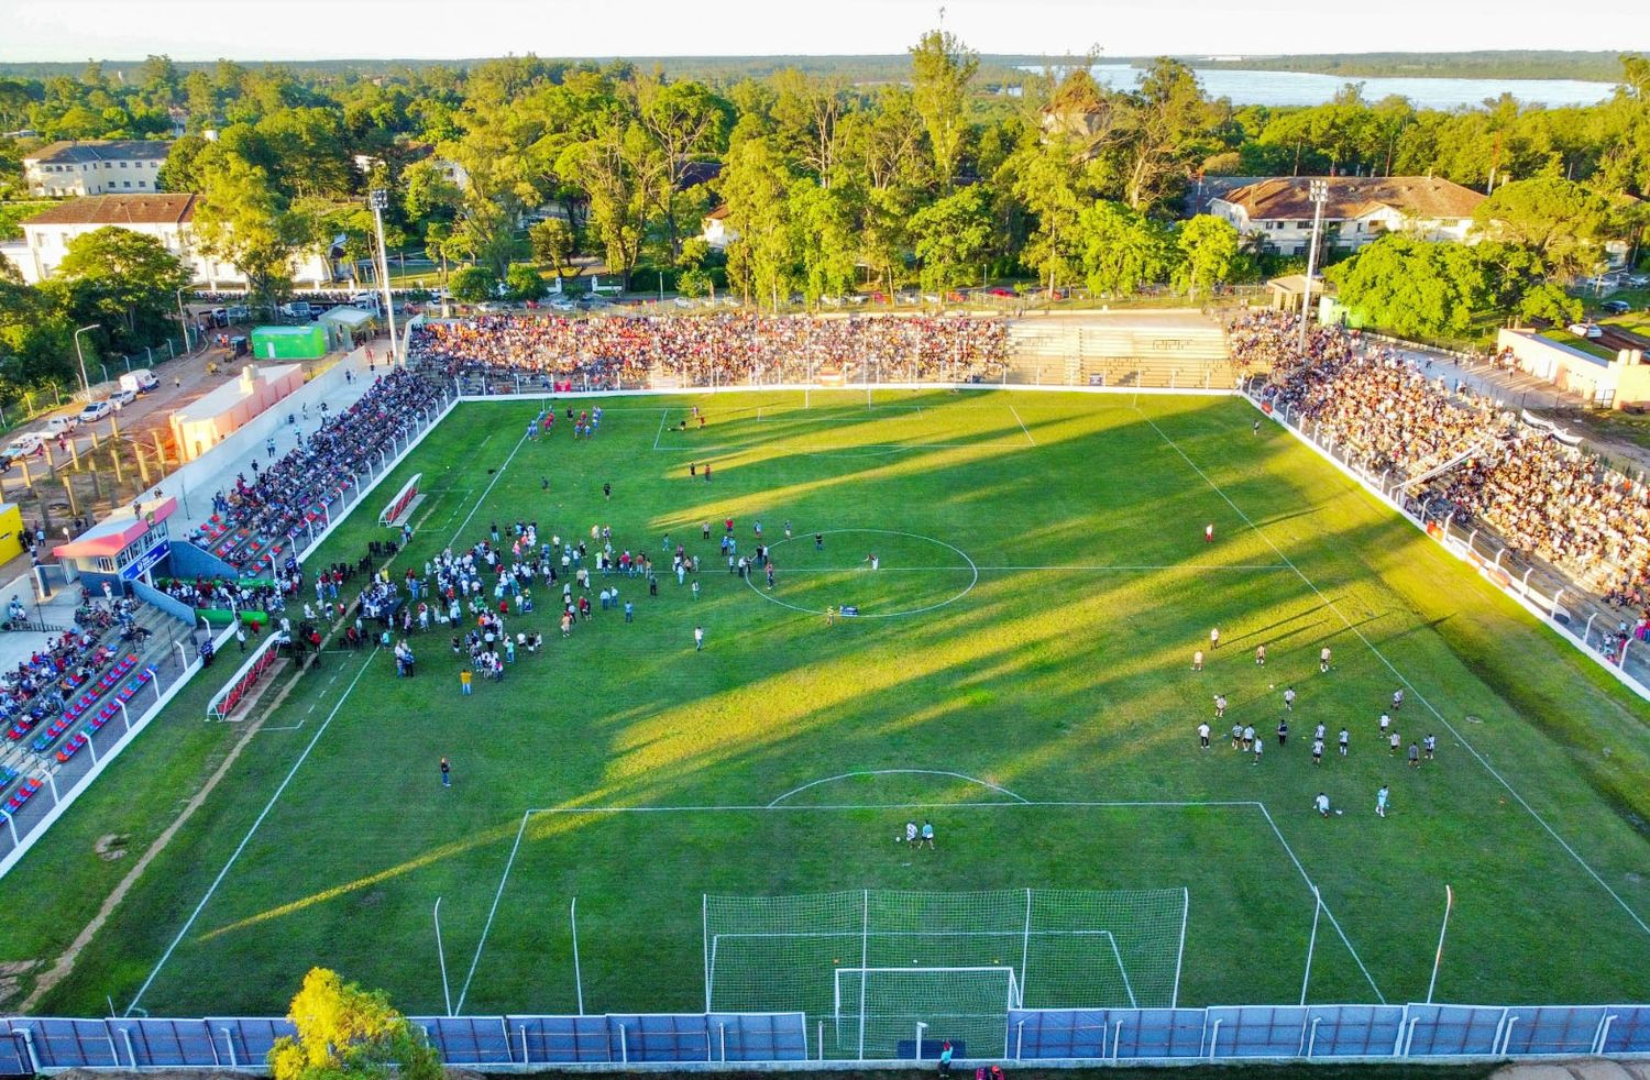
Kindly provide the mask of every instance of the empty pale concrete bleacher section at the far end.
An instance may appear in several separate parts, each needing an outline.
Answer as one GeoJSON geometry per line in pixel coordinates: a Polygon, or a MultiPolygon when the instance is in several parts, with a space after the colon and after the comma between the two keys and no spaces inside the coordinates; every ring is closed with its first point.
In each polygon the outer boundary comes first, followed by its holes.
{"type": "Polygon", "coordinates": [[[1198,312],[1104,312],[1010,325],[1008,381],[1231,389],[1238,369],[1226,331],[1198,312]]]}

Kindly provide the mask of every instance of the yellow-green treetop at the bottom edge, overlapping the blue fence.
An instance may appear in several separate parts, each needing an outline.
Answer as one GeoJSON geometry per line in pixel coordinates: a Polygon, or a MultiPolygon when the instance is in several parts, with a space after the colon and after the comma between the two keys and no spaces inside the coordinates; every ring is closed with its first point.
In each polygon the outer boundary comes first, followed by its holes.
{"type": "Polygon", "coordinates": [[[297,1035],[269,1050],[274,1080],[442,1080],[441,1055],[383,991],[365,991],[333,971],[310,968],[287,1019],[297,1035]]]}

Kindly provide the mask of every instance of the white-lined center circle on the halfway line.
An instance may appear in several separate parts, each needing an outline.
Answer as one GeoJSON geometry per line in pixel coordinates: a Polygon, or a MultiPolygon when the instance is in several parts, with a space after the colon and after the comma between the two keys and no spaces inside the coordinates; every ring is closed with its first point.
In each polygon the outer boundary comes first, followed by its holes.
{"type": "MultiPolygon", "coordinates": [[[[955,544],[947,544],[945,541],[934,539],[932,536],[922,536],[921,533],[901,533],[899,529],[820,529],[817,533],[797,533],[787,539],[774,541],[767,546],[767,552],[772,557],[774,552],[785,544],[800,546],[802,552],[795,564],[777,566],[776,579],[779,582],[787,582],[787,575],[832,575],[837,580],[828,582],[828,587],[837,587],[840,584],[840,599],[830,607],[842,608],[846,607],[866,607],[874,605],[876,594],[873,592],[874,584],[879,580],[898,579],[903,574],[950,574],[959,577],[964,584],[962,587],[947,595],[944,600],[934,603],[919,603],[911,607],[901,607],[898,610],[878,612],[878,610],[861,610],[858,615],[848,618],[903,618],[908,615],[922,615],[924,612],[932,612],[945,607],[947,603],[955,603],[980,582],[980,567],[974,564],[969,552],[957,547],[955,544]],[[813,544],[813,538],[835,538],[823,542],[823,551],[818,551],[813,544]],[[863,536],[866,542],[846,546],[846,556],[843,552],[843,538],[863,536]],[[878,551],[878,538],[881,538],[881,547],[888,554],[878,551]],[[903,541],[919,541],[919,544],[932,544],[942,547],[954,556],[947,564],[924,566],[909,561],[909,549],[916,544],[908,544],[903,541]],[[889,549],[889,544],[893,547],[889,549]],[[863,551],[861,551],[863,549],[863,551]],[[855,556],[853,552],[860,552],[855,556]],[[871,569],[870,559],[876,556],[878,566],[871,569]],[[863,559],[856,566],[845,566],[843,559],[860,557],[863,559]],[[884,577],[888,575],[888,577],[884,577]],[[860,602],[865,597],[866,603],[860,602]]],[[[776,564],[779,561],[776,559],[776,564]]],[[[805,603],[792,603],[782,597],[769,592],[762,579],[762,571],[759,567],[751,567],[751,574],[746,577],[746,584],[769,603],[777,603],[779,607],[789,607],[792,612],[802,612],[804,615],[823,615],[823,607],[810,607],[805,603]]]]}

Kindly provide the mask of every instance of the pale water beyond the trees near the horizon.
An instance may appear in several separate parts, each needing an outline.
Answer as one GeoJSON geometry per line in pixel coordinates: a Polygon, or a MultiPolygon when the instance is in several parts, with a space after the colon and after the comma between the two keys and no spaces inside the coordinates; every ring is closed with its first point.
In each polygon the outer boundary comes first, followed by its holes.
{"type": "MultiPolygon", "coordinates": [[[[1036,68],[1026,68],[1036,71],[1036,68]]],[[[1365,101],[1389,94],[1407,97],[1422,109],[1478,106],[1487,97],[1511,94],[1521,102],[1543,106],[1592,106],[1609,97],[1610,82],[1581,79],[1353,79],[1300,71],[1236,71],[1196,68],[1209,97],[1229,97],[1236,106],[1322,106],[1346,82],[1363,82],[1365,101]]],[[[1102,86],[1132,89],[1138,68],[1096,64],[1094,79],[1102,86]]]]}

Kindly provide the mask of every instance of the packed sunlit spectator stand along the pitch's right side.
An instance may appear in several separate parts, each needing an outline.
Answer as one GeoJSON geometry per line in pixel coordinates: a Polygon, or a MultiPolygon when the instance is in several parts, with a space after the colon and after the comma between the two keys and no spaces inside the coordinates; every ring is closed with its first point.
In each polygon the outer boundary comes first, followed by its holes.
{"type": "Polygon", "coordinates": [[[1612,603],[1650,607],[1650,490],[1356,331],[1315,326],[1300,356],[1299,328],[1275,312],[1231,328],[1234,358],[1270,371],[1274,409],[1376,475],[1424,481],[1409,495],[1457,523],[1493,531],[1612,603]]]}

